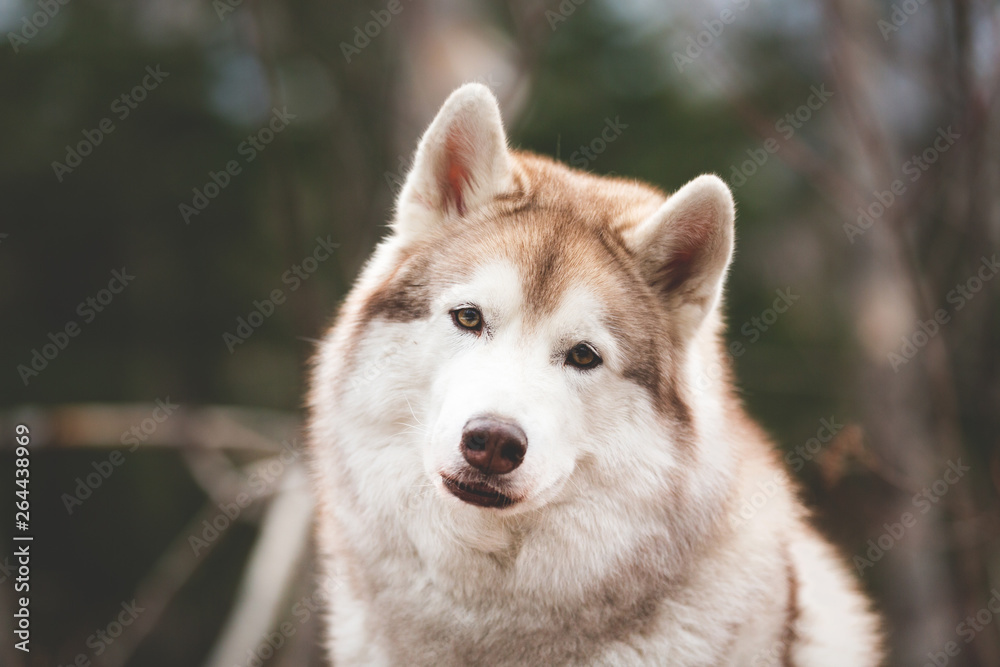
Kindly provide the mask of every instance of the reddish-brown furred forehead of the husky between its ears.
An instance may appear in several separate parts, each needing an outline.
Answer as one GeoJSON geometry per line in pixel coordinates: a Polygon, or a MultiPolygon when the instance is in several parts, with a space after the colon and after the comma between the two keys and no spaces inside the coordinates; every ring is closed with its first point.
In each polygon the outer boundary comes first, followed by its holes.
{"type": "Polygon", "coordinates": [[[630,318],[626,305],[655,310],[655,303],[638,303],[648,289],[623,237],[656,211],[664,195],[531,154],[512,157],[515,191],[463,219],[442,221],[437,233],[404,248],[395,269],[365,300],[362,319],[426,317],[435,295],[469,284],[478,269],[498,262],[513,267],[506,273],[516,280],[494,272],[503,283],[497,287],[516,282],[528,313],[551,313],[570,287],[588,288],[619,321],[630,318]]]}

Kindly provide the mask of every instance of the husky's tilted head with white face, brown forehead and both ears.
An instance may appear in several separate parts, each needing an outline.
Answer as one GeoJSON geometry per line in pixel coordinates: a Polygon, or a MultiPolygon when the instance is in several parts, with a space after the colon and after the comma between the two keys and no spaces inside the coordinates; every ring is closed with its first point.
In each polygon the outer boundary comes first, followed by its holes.
{"type": "Polygon", "coordinates": [[[733,220],[714,176],[666,197],[512,152],[489,90],[460,88],[321,355],[337,437],[456,511],[657,493],[711,428],[692,378],[717,358],[733,220]]]}

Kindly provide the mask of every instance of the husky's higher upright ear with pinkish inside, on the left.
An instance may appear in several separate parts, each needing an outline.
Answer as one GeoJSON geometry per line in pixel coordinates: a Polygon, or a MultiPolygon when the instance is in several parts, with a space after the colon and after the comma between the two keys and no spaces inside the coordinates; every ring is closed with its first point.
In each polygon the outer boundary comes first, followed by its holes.
{"type": "Polygon", "coordinates": [[[451,94],[424,133],[396,204],[394,229],[412,238],[460,219],[513,187],[500,107],[486,86],[451,94]]]}

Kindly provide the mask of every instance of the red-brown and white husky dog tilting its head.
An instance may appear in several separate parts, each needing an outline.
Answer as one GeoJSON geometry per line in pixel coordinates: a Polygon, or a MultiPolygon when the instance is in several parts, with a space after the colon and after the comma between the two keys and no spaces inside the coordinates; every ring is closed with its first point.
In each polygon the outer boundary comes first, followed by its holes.
{"type": "Polygon", "coordinates": [[[734,397],[734,218],[715,176],[574,171],[448,98],[315,359],[334,665],[881,663],[734,397]]]}

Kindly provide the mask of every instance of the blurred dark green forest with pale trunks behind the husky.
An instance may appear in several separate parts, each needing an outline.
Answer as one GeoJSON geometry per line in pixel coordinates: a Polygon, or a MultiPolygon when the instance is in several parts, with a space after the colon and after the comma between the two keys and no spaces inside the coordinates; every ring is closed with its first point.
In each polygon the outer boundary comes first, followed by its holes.
{"type": "Polygon", "coordinates": [[[997,2],[0,0],[0,28],[0,498],[25,422],[37,536],[26,659],[0,521],[0,664],[322,664],[306,362],[477,80],[517,147],[731,184],[740,387],[890,664],[1000,665],[997,2]]]}

